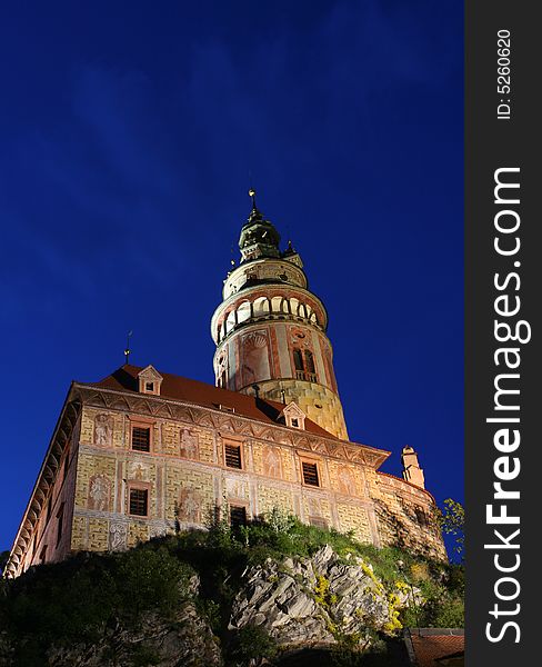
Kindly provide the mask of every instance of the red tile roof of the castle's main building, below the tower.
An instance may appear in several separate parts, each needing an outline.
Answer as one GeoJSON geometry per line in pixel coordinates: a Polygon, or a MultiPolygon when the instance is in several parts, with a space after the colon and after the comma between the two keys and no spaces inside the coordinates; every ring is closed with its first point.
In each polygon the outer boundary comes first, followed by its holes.
{"type": "MultiPolygon", "coordinates": [[[[143,368],[139,366],[124,365],[99,382],[84,384],[91,387],[139,394],[138,374],[142,370],[143,368]]],[[[220,389],[219,387],[213,387],[207,382],[191,380],[169,372],[159,372],[163,377],[160,388],[160,396],[162,398],[187,401],[213,409],[220,409],[220,406],[233,408],[237,415],[274,425],[278,424],[277,418],[284,408],[282,404],[272,400],[257,398],[255,396],[247,396],[245,394],[229,391],[228,389],[220,389]]],[[[338,439],[309,418],[305,419],[304,425],[305,430],[310,434],[333,438],[335,440],[338,439]]]]}

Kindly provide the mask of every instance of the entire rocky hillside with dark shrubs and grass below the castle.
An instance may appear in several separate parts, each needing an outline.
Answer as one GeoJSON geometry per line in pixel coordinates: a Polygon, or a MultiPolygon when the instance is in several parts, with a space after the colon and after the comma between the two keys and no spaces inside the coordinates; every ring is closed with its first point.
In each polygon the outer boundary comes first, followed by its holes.
{"type": "Polygon", "coordinates": [[[450,573],[298,524],[79,555],[2,584],[0,665],[365,665],[450,603],[450,573]]]}

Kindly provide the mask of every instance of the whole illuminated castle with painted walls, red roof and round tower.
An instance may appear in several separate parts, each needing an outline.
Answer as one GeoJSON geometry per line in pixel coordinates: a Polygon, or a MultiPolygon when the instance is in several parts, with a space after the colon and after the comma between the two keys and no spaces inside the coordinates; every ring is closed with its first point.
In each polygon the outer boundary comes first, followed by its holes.
{"type": "Polygon", "coordinates": [[[232,524],[278,508],[445,559],[414,449],[399,478],[379,470],[389,451],[349,439],[325,308],[251,196],[211,321],[215,386],[128,362],[72,382],[6,576],[204,528],[217,508],[232,524]]]}

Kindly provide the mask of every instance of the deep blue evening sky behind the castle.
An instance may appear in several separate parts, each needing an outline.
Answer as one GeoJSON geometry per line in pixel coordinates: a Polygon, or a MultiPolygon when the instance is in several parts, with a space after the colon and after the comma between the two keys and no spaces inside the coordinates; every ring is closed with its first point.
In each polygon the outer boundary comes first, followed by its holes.
{"type": "Polygon", "coordinates": [[[258,202],[330,315],[350,436],[463,498],[462,3],[18,2],[0,20],[0,549],[72,379],[213,382],[258,202]]]}

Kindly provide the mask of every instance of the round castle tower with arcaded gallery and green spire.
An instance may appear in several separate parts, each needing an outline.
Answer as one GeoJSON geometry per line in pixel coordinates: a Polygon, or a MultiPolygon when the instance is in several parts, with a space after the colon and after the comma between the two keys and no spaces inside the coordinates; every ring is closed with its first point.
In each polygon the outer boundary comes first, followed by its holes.
{"type": "Polygon", "coordinates": [[[249,195],[241,262],[228,273],[211,320],[217,386],[295,401],[310,419],[348,440],[325,308],[308,289],[298,252],[290,242],[279,249],[279,232],[258,209],[254,191],[249,195]]]}

